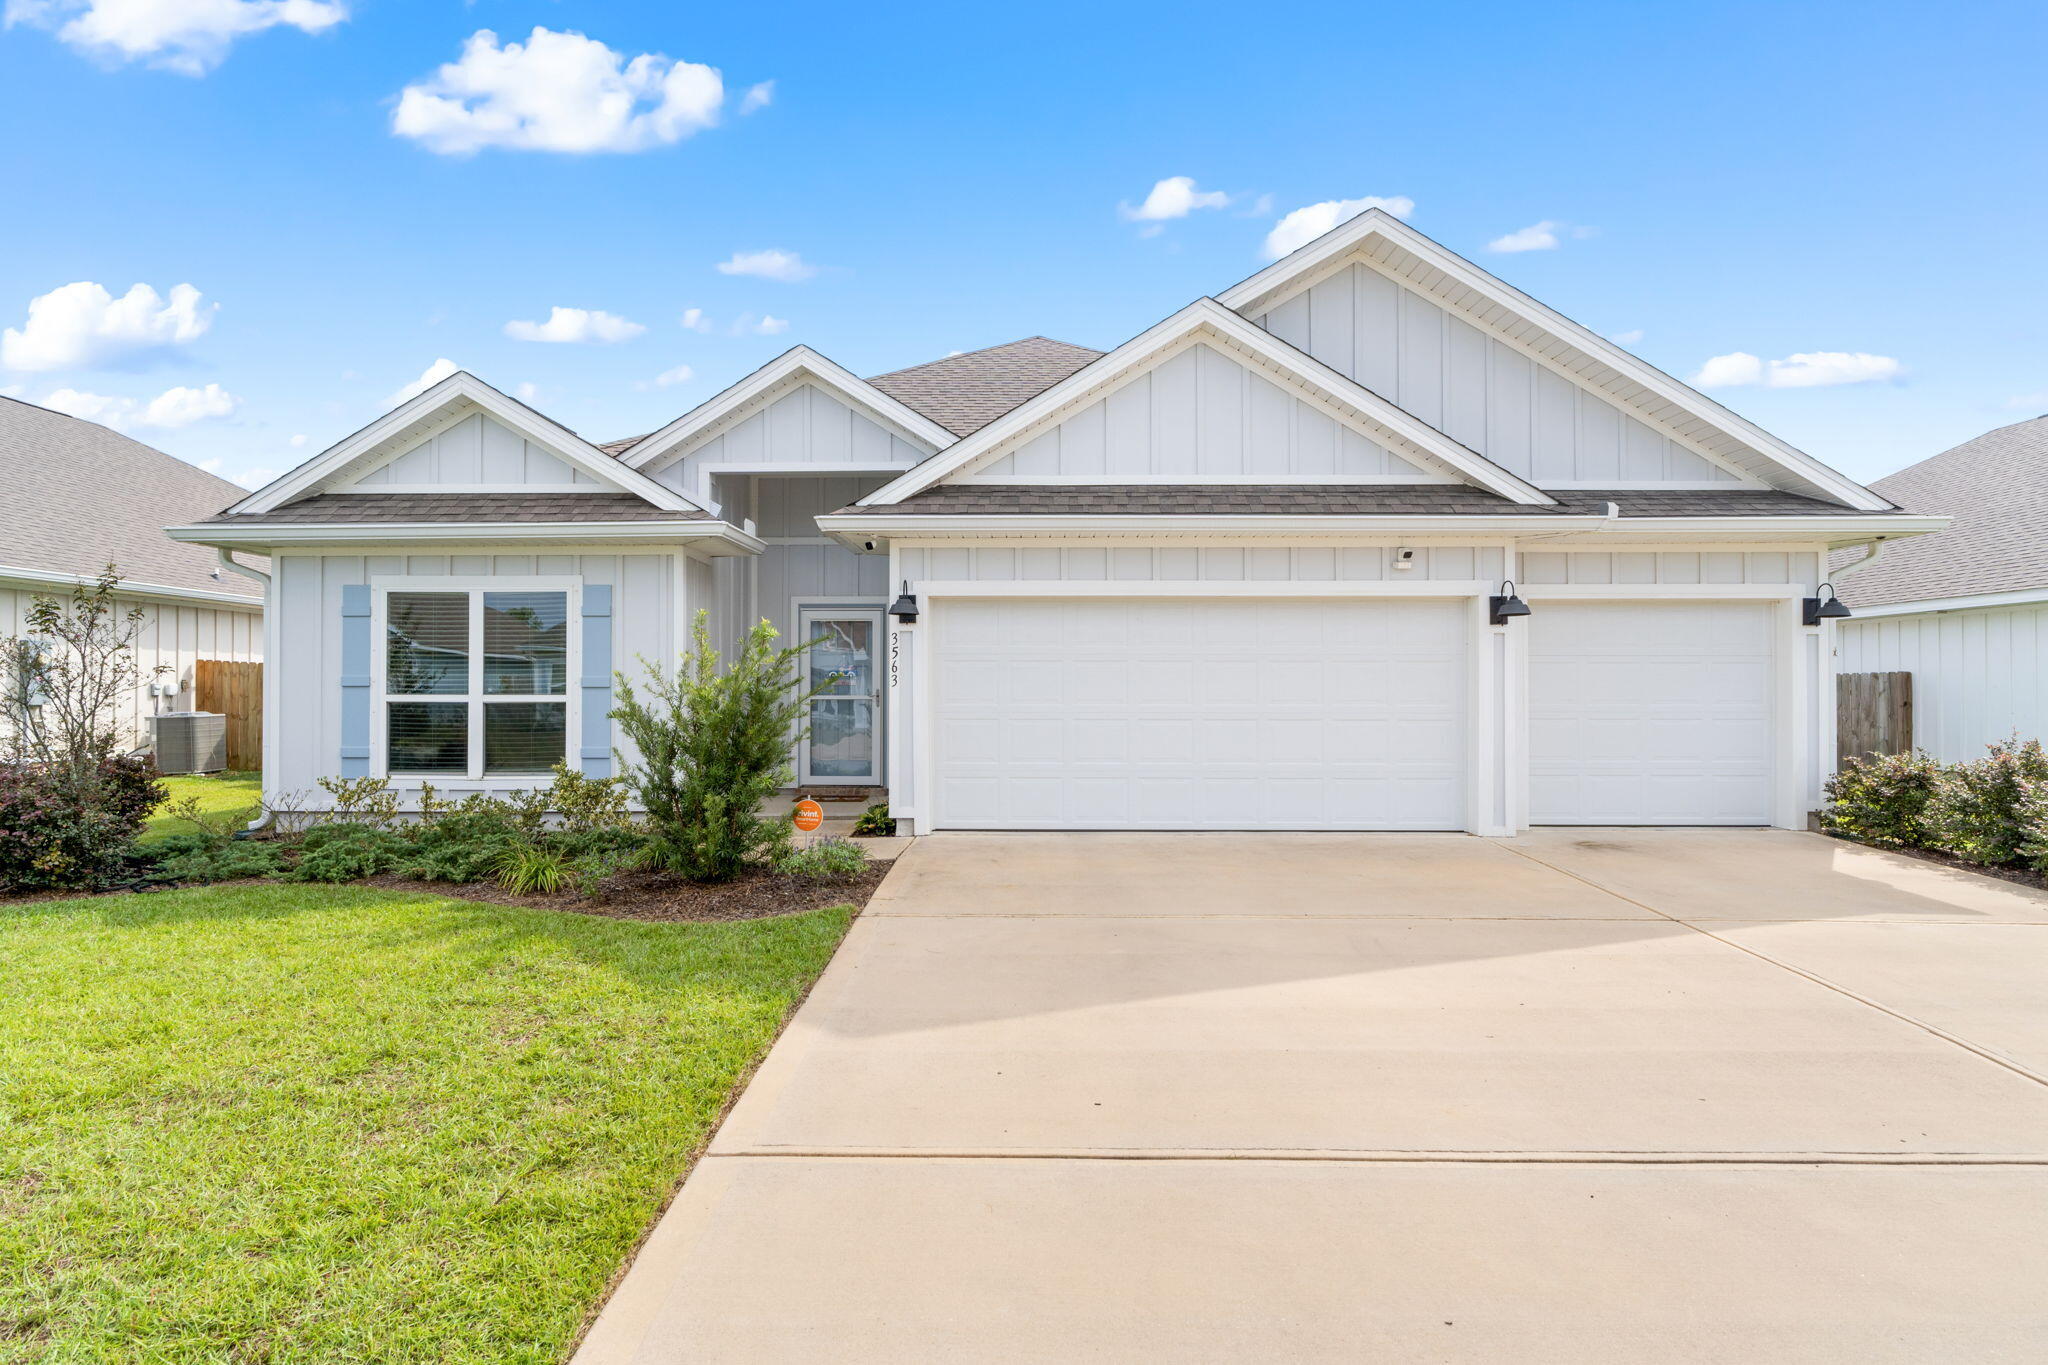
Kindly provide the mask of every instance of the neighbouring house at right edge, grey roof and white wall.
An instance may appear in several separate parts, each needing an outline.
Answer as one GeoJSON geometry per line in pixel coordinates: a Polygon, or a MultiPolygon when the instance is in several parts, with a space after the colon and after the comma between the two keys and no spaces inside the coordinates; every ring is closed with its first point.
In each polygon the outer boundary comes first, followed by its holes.
{"type": "MultiPolygon", "coordinates": [[[[2048,417],[1985,432],[1876,491],[1948,530],[1837,569],[1843,673],[1913,673],[1913,743],[1954,763],[2048,737],[2048,417]]],[[[1853,557],[1843,557],[1853,559],[1853,557]]]]}

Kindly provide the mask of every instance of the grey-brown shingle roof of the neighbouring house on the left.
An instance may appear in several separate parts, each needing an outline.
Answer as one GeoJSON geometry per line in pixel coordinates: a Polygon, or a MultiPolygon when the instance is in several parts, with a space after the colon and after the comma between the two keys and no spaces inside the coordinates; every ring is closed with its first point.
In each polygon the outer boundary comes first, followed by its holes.
{"type": "Polygon", "coordinates": [[[164,536],[164,522],[197,520],[246,497],[227,479],[96,422],[0,399],[0,573],[92,577],[113,563],[137,587],[260,600],[213,551],[164,536]]]}

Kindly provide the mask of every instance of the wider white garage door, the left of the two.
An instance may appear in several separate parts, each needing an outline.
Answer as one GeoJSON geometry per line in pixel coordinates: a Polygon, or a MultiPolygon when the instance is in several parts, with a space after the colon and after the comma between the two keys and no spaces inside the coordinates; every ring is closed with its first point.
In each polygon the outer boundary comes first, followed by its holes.
{"type": "Polygon", "coordinates": [[[1462,829],[1460,600],[952,598],[940,829],[1462,829]]]}

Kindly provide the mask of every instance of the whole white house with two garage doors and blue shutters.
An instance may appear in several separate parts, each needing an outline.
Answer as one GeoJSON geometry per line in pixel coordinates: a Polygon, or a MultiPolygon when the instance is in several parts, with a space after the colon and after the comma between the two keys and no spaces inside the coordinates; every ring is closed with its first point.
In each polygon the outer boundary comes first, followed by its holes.
{"type": "Polygon", "coordinates": [[[274,557],[272,792],[610,772],[705,608],[827,641],[799,778],[918,833],[1505,833],[1802,825],[1821,565],[1942,524],[1372,211],[1108,354],[799,346],[610,446],[455,375],[170,534],[274,557]]]}

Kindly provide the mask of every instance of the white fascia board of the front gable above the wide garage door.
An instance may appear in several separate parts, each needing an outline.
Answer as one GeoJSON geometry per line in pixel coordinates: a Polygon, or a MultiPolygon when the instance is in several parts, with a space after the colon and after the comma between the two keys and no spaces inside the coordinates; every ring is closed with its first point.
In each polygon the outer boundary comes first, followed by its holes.
{"type": "MultiPolygon", "coordinates": [[[[1038,397],[1012,407],[979,432],[963,436],[944,452],[905,471],[901,479],[874,489],[860,499],[860,505],[881,508],[899,503],[911,493],[922,493],[934,483],[944,483],[946,475],[969,469],[975,460],[995,454],[1006,442],[1057,415],[1063,407],[1108,383],[1114,383],[1126,370],[1137,370],[1149,364],[1159,352],[1182,342],[1184,338],[1198,336],[1200,332],[1214,332],[1219,338],[1231,342],[1233,346],[1241,346],[1276,370],[1282,370],[1294,381],[1321,391],[1331,401],[1364,413],[1370,422],[1393,432],[1430,458],[1446,465],[1470,483],[1491,493],[1499,493],[1507,501],[1524,505],[1556,503],[1554,497],[1536,485],[1518,479],[1477,450],[1468,450],[1427,422],[1413,417],[1348,375],[1339,375],[1329,368],[1315,356],[1288,346],[1264,327],[1251,325],[1214,299],[1196,299],[1188,307],[1147,327],[1106,356],[1098,356],[1087,362],[1038,397]]],[[[1202,479],[1190,477],[1184,479],[1184,483],[1202,483],[1202,479]]],[[[1284,483],[1284,479],[1276,483],[1284,483]]]]}

